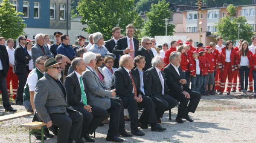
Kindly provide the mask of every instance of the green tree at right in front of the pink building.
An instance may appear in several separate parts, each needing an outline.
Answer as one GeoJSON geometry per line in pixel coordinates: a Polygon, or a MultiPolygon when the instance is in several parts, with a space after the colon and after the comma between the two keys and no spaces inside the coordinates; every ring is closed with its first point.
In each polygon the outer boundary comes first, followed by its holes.
{"type": "MultiPolygon", "coordinates": [[[[233,8],[234,5],[228,6],[227,12],[231,14],[233,8]]],[[[239,38],[242,38],[247,41],[250,41],[250,37],[252,37],[253,35],[253,27],[247,23],[247,20],[244,16],[236,18],[231,17],[230,15],[225,15],[225,17],[222,17],[220,22],[216,24],[217,25],[215,27],[217,27],[217,33],[220,34],[224,40],[231,40],[232,42],[235,42],[235,40],[238,40],[238,31],[239,38]],[[240,31],[238,23],[240,23],[240,31]]]]}

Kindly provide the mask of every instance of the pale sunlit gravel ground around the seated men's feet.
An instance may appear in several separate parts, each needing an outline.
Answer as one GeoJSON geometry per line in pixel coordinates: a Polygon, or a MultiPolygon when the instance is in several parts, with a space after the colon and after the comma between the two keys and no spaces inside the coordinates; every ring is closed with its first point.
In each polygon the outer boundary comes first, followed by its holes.
{"type": "MultiPolygon", "coordinates": [[[[126,143],[255,143],[256,140],[256,103],[250,94],[240,97],[240,93],[232,95],[202,96],[195,114],[190,113],[194,122],[175,122],[177,108],[172,109],[172,120],[165,112],[161,126],[166,127],[166,132],[151,132],[142,129],[145,136],[122,137],[126,143]]],[[[13,101],[12,101],[13,102],[13,101]]],[[[25,111],[23,106],[12,105],[18,112],[25,111]]],[[[0,114],[4,112],[0,105],[0,114]]],[[[20,124],[32,121],[32,116],[22,117],[0,123],[0,143],[28,143],[29,131],[21,128],[20,124]]],[[[125,129],[130,132],[130,122],[125,122],[125,129]]],[[[96,129],[96,143],[105,143],[108,125],[96,129]]],[[[32,143],[40,143],[34,136],[32,143]]],[[[45,143],[55,143],[54,138],[47,138],[45,143]]],[[[75,142],[74,142],[75,143],[75,142]]]]}

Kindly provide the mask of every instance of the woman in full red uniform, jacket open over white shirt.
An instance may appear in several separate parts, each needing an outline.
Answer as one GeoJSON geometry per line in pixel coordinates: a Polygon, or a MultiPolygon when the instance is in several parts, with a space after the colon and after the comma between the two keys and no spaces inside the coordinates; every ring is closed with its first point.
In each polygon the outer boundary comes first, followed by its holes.
{"type": "Polygon", "coordinates": [[[221,49],[221,52],[218,57],[218,68],[221,73],[221,86],[219,94],[222,95],[225,89],[226,80],[227,83],[227,95],[230,95],[232,78],[233,74],[237,70],[237,54],[233,49],[233,43],[228,40],[225,44],[225,47],[221,49]]]}

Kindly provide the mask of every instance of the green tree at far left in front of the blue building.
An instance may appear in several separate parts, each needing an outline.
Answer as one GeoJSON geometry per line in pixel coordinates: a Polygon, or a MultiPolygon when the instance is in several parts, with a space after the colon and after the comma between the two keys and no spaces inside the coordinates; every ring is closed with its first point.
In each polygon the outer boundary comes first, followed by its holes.
{"type": "Polygon", "coordinates": [[[5,39],[17,39],[21,34],[24,34],[26,23],[19,15],[21,12],[15,11],[15,8],[9,0],[3,0],[0,6],[0,36],[5,39]]]}

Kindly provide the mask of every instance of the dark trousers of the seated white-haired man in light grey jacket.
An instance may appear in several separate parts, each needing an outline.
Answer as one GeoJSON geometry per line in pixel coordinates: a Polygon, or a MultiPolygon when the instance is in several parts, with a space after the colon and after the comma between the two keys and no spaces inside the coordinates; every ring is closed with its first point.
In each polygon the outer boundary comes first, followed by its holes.
{"type": "Polygon", "coordinates": [[[110,98],[111,106],[107,109],[110,113],[108,136],[118,136],[118,133],[125,132],[125,118],[122,100],[110,98]]]}

